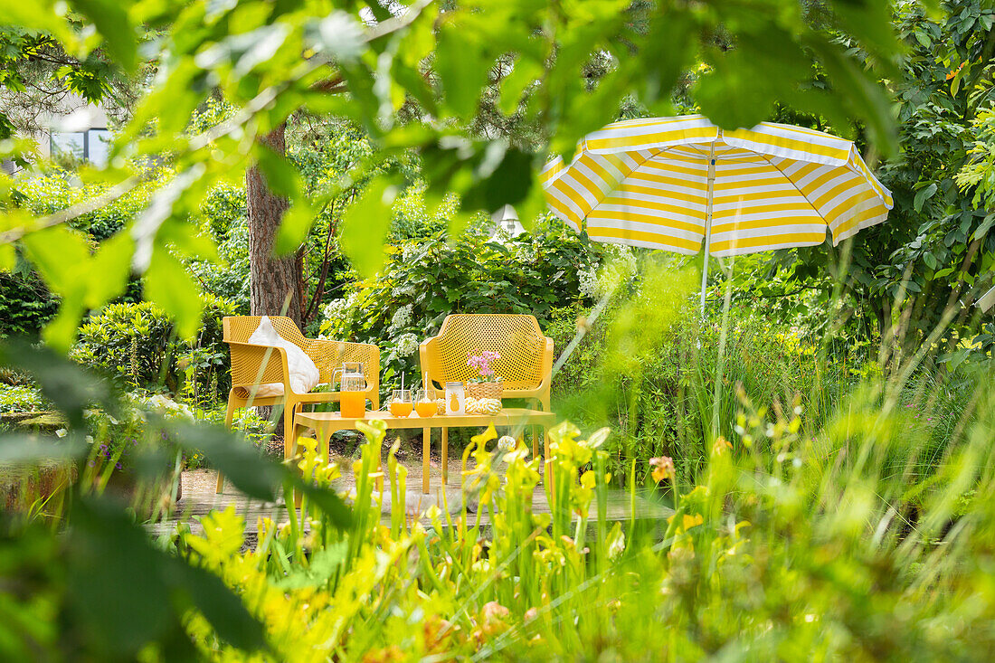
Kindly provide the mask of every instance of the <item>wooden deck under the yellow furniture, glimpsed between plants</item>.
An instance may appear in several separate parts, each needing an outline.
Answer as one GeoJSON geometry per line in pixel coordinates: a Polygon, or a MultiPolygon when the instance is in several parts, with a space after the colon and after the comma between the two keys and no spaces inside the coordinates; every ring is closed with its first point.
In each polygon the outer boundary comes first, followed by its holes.
{"type": "MultiPolygon", "coordinates": [[[[333,458],[338,461],[342,468],[343,476],[338,480],[336,488],[340,491],[348,491],[354,484],[351,475],[351,459],[333,458]]],[[[386,459],[384,459],[386,461],[386,459]]],[[[411,454],[409,458],[402,461],[408,470],[406,478],[407,500],[404,511],[410,519],[423,518],[425,511],[432,505],[439,506],[440,509],[448,509],[450,513],[457,514],[463,509],[463,491],[460,487],[461,467],[459,460],[451,460],[449,463],[449,484],[446,486],[445,497],[442,491],[442,472],[439,463],[433,459],[430,463],[429,494],[425,495],[421,491],[422,486],[422,464],[421,458],[411,454]]],[[[384,463],[386,467],[386,462],[384,463]]],[[[265,503],[259,500],[252,500],[235,490],[231,484],[226,483],[224,491],[215,494],[215,484],[217,474],[211,470],[194,470],[183,473],[183,497],[177,503],[177,508],[169,520],[155,523],[148,526],[152,534],[167,534],[172,532],[178,523],[188,523],[194,533],[202,532],[199,518],[214,510],[226,509],[229,505],[234,505],[236,511],[245,518],[247,540],[255,540],[258,529],[258,522],[261,518],[271,518],[278,523],[286,523],[289,520],[288,511],[282,498],[278,498],[277,503],[265,503]]],[[[608,494],[608,520],[627,521],[632,518],[632,504],[628,492],[612,490],[608,494]]],[[[656,504],[639,495],[636,496],[636,518],[639,520],[660,520],[669,518],[673,511],[662,505],[656,504]]],[[[467,500],[468,512],[476,514],[477,504],[473,498],[467,500]]],[[[593,517],[594,505],[592,505],[593,517]]],[[[390,504],[389,485],[385,485],[383,501],[381,506],[381,521],[390,523],[392,505],[390,504]]],[[[542,486],[536,487],[532,494],[533,513],[549,513],[549,504],[546,500],[545,491],[542,486]]],[[[481,523],[489,522],[487,511],[481,515],[481,523]]]]}

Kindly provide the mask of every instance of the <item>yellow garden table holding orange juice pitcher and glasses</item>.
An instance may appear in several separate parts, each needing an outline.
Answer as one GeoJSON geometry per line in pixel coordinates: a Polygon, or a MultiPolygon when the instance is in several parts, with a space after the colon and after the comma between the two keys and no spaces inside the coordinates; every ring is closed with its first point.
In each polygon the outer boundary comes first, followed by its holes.
{"type": "MultiPolygon", "coordinates": [[[[357,421],[372,421],[381,419],[388,429],[422,429],[422,493],[429,492],[429,456],[432,446],[432,429],[442,429],[442,482],[446,484],[449,475],[449,429],[450,428],[486,428],[491,424],[512,428],[525,426],[541,426],[543,429],[543,452],[545,462],[549,463],[549,427],[555,423],[556,415],[552,412],[508,408],[498,414],[438,414],[434,417],[395,417],[390,412],[367,412],[363,417],[343,417],[338,412],[297,412],[294,415],[295,438],[301,429],[313,428],[321,443],[321,450],[328,457],[328,440],[337,430],[352,430],[357,421]]],[[[538,437],[532,436],[532,457],[539,453],[538,437]]]]}

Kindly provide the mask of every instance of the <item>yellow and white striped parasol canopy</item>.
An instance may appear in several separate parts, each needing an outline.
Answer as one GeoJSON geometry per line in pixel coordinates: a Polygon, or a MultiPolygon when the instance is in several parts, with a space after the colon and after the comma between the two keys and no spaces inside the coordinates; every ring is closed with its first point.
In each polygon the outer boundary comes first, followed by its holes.
{"type": "MultiPolygon", "coordinates": [[[[702,115],[588,134],[540,176],[546,201],[596,241],[732,256],[833,244],[881,223],[892,192],[850,140],[773,122],[722,131],[702,115]]],[[[703,277],[704,275],[702,275],[703,277]]],[[[703,283],[703,278],[702,278],[703,283]]]]}

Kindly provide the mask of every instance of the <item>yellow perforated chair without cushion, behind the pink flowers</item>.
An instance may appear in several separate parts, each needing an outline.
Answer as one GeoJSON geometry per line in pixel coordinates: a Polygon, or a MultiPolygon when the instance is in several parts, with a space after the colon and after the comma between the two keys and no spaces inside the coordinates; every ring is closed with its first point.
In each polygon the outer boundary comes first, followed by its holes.
{"type": "Polygon", "coordinates": [[[445,388],[446,382],[477,377],[467,365],[471,351],[500,354],[492,367],[501,378],[502,398],[530,398],[549,411],[549,382],[553,367],[553,339],[542,334],[532,316],[510,314],[456,314],[447,316],[439,335],[422,341],[422,386],[445,388]]]}

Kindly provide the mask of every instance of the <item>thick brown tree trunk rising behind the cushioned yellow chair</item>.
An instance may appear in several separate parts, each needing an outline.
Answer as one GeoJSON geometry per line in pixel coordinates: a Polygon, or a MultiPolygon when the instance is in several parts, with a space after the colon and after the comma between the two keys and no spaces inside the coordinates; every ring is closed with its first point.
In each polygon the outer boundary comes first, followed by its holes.
{"type": "MultiPolygon", "coordinates": [[[[283,123],[262,141],[284,155],[287,153],[286,133],[287,124],[283,123]]],[[[258,166],[246,171],[246,197],[250,311],[253,316],[287,316],[300,327],[303,319],[302,256],[299,251],[281,258],[273,255],[273,242],[290,202],[270,190],[258,166]]]]}

